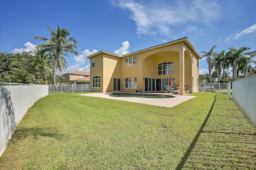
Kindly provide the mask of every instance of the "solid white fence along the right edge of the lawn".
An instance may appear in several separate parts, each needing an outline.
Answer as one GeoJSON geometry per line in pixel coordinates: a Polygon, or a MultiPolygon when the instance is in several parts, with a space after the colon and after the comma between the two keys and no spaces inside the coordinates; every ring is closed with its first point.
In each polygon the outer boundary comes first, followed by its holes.
{"type": "Polygon", "coordinates": [[[256,74],[232,82],[232,98],[256,126],[256,74]]]}

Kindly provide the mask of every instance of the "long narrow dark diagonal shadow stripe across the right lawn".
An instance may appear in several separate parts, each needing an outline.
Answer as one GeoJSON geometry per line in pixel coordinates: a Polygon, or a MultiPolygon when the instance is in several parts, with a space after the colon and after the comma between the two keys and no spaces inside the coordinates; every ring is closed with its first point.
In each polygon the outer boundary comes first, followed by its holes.
{"type": "MultiPolygon", "coordinates": [[[[216,97],[216,96],[215,96],[216,97]]],[[[214,98],[215,98],[214,97],[214,98]]],[[[184,156],[181,158],[180,160],[180,163],[178,164],[178,166],[176,167],[176,170],[181,170],[184,166],[184,164],[186,163],[187,159],[188,159],[188,156],[191,154],[193,148],[195,147],[197,141],[198,141],[198,138],[200,137],[201,133],[203,132],[203,129],[212,113],[212,109],[213,109],[213,106],[216,102],[216,98],[214,100],[214,102],[212,103],[212,107],[210,108],[210,111],[208,113],[208,115],[206,116],[206,118],[204,119],[204,123],[201,125],[199,131],[197,132],[196,136],[194,137],[192,143],[190,144],[190,146],[188,147],[187,151],[185,152],[184,156]]]]}

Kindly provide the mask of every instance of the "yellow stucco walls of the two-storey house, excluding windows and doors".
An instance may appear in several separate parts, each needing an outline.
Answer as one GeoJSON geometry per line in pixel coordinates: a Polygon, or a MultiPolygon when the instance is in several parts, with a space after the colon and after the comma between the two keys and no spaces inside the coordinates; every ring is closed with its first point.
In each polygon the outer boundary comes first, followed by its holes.
{"type": "MultiPolygon", "coordinates": [[[[192,64],[192,51],[190,43],[186,41],[177,41],[176,43],[164,44],[150,49],[145,49],[135,53],[130,53],[118,57],[117,55],[102,51],[90,57],[90,61],[95,59],[95,67],[90,66],[91,72],[91,91],[92,92],[113,92],[114,78],[121,79],[122,92],[135,92],[142,88],[144,92],[143,78],[176,78],[176,87],[180,86],[180,94],[184,94],[184,83],[192,84],[198,78],[197,58],[194,57],[192,64]],[[125,66],[125,59],[137,57],[137,63],[134,66],[125,66]],[[173,74],[158,76],[158,64],[164,62],[173,63],[173,74]],[[101,88],[92,88],[92,77],[101,77],[101,88]],[[137,78],[136,88],[125,88],[125,78],[137,78]],[[183,89],[183,90],[182,90],[183,89]]],[[[197,57],[200,56],[196,52],[197,57]]]]}

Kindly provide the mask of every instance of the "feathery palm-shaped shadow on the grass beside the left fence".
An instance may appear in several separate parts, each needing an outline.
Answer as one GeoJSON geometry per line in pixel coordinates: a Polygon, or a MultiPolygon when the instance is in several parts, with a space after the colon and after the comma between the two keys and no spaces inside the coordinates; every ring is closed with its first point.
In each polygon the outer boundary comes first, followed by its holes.
{"type": "Polygon", "coordinates": [[[58,134],[56,131],[53,131],[50,127],[32,127],[32,128],[18,128],[15,130],[15,133],[12,137],[12,140],[21,140],[25,139],[26,137],[32,136],[37,139],[39,136],[42,137],[52,137],[55,139],[62,139],[63,134],[58,134]]]}

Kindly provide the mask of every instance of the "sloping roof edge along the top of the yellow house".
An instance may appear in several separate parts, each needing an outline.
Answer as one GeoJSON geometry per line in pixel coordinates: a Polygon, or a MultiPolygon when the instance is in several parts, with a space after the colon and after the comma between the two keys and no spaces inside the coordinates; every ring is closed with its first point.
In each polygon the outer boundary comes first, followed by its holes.
{"type": "Polygon", "coordinates": [[[202,57],[200,56],[200,54],[198,53],[198,51],[196,51],[196,49],[194,48],[194,46],[192,45],[192,43],[190,43],[190,41],[188,40],[187,37],[183,37],[183,38],[181,38],[181,39],[177,39],[177,40],[174,40],[174,41],[170,41],[170,42],[168,42],[168,43],[164,43],[164,44],[161,44],[161,45],[156,45],[156,46],[154,46],[154,47],[150,47],[150,48],[147,48],[147,49],[143,49],[143,50],[136,51],[136,52],[129,53],[129,54],[126,54],[126,55],[122,55],[122,56],[116,55],[116,54],[114,54],[114,53],[110,53],[110,52],[108,52],[108,51],[102,50],[102,51],[99,51],[98,53],[94,53],[94,54],[92,54],[92,55],[89,55],[89,56],[86,57],[86,58],[91,58],[91,57],[93,57],[93,56],[95,56],[95,55],[98,55],[98,54],[100,54],[100,53],[108,53],[108,54],[111,54],[111,55],[115,55],[116,57],[125,57],[125,56],[130,55],[130,54],[136,54],[136,53],[140,53],[140,52],[147,51],[147,50],[150,50],[150,49],[155,49],[155,48],[158,48],[158,47],[162,47],[162,46],[165,46],[165,45],[170,45],[170,44],[178,43],[178,42],[182,42],[182,41],[185,41],[185,42],[186,42],[186,44],[192,49],[192,53],[194,53],[194,54],[198,57],[198,59],[201,59],[201,58],[202,58],[202,57]]]}

